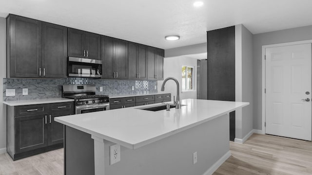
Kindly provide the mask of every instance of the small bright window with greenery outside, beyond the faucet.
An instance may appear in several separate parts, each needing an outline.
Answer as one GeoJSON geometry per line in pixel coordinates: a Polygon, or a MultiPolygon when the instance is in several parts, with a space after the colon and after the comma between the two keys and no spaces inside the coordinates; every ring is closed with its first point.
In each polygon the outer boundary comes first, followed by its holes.
{"type": "Polygon", "coordinates": [[[182,92],[194,90],[194,67],[182,66],[182,92]]]}

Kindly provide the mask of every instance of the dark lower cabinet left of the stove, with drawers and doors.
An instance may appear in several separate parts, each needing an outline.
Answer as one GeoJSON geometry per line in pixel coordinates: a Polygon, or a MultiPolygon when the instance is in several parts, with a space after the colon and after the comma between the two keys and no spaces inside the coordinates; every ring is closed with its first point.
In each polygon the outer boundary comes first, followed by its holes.
{"type": "Polygon", "coordinates": [[[63,124],[54,118],[74,113],[73,102],[7,106],[7,152],[17,160],[63,147],[63,124]]]}

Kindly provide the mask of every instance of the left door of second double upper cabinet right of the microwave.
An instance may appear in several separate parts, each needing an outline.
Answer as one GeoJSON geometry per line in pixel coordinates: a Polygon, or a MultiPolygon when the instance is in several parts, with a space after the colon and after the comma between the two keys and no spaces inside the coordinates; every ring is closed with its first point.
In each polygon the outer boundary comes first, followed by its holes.
{"type": "Polygon", "coordinates": [[[128,76],[131,80],[138,78],[137,74],[137,43],[128,43],[128,76]]]}

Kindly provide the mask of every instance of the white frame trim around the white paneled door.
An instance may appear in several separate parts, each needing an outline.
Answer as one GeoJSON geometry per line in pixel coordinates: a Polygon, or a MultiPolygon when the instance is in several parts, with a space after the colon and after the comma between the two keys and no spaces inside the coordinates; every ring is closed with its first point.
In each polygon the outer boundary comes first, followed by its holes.
{"type": "MultiPolygon", "coordinates": [[[[279,44],[270,44],[270,45],[263,45],[262,46],[262,56],[261,56],[261,60],[262,60],[262,88],[261,88],[261,94],[262,94],[262,127],[261,127],[261,134],[265,134],[265,113],[266,113],[266,98],[265,98],[265,73],[266,73],[266,68],[265,68],[265,50],[267,48],[272,48],[272,47],[281,47],[281,46],[291,46],[291,45],[299,45],[299,44],[310,44],[312,43],[312,40],[303,40],[303,41],[294,41],[294,42],[287,42],[287,43],[279,43],[279,44]]],[[[312,68],[312,66],[311,66],[312,68]]]]}

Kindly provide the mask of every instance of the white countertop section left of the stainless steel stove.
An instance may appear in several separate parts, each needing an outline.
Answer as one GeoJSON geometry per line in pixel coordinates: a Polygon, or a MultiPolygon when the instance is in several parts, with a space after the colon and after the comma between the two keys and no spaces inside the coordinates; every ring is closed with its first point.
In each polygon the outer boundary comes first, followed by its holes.
{"type": "Polygon", "coordinates": [[[48,98],[48,99],[34,99],[34,100],[12,100],[12,101],[4,101],[3,104],[9,105],[9,106],[18,106],[18,105],[38,105],[38,104],[49,104],[49,103],[61,103],[61,102],[74,102],[74,99],[48,98]]]}

